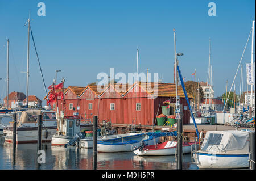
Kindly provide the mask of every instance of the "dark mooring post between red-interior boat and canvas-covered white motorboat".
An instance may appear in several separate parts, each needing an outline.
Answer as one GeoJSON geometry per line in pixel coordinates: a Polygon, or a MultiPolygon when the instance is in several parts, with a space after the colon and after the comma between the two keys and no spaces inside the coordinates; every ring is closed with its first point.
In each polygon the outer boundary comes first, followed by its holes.
{"type": "Polygon", "coordinates": [[[182,119],[177,119],[177,170],[182,170],[182,119]]]}

